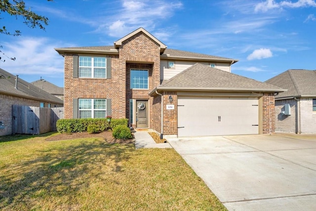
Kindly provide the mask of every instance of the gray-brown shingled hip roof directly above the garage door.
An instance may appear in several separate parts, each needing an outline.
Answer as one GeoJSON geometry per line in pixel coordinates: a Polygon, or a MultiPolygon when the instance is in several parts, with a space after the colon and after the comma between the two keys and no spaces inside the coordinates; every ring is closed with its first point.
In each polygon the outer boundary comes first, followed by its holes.
{"type": "Polygon", "coordinates": [[[159,90],[213,90],[213,91],[259,91],[282,92],[285,89],[211,68],[199,63],[194,64],[171,79],[164,81],[150,92],[159,90]]]}

